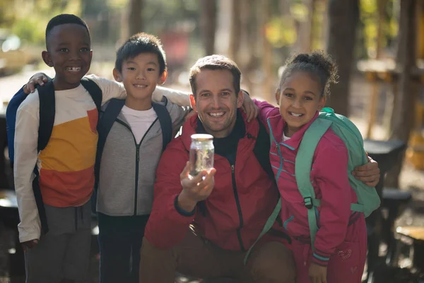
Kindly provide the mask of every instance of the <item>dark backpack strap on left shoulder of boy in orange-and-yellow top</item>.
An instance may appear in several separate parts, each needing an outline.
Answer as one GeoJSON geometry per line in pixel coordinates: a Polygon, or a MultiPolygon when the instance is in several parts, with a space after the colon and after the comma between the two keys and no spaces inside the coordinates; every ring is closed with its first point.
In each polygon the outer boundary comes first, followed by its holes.
{"type": "Polygon", "coordinates": [[[52,135],[54,115],[56,115],[53,81],[48,81],[45,86],[37,86],[37,91],[40,98],[40,125],[38,126],[37,150],[42,151],[47,146],[52,135]]]}

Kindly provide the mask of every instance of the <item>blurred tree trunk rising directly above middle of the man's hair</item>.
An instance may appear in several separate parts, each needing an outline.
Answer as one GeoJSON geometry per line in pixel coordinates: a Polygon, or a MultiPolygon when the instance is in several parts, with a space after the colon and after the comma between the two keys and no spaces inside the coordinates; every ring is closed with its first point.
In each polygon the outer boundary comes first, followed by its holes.
{"type": "Polygon", "coordinates": [[[215,53],[216,0],[201,0],[201,36],[206,55],[215,53]]]}

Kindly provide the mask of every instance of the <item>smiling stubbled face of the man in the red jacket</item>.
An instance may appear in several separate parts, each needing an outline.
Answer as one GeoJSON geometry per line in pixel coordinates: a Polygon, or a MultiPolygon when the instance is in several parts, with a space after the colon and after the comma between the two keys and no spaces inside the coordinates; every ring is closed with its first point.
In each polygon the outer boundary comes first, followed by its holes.
{"type": "Polygon", "coordinates": [[[228,70],[202,69],[196,76],[193,109],[199,114],[206,132],[213,137],[227,137],[235,125],[237,108],[243,104],[242,91],[235,93],[228,70]]]}

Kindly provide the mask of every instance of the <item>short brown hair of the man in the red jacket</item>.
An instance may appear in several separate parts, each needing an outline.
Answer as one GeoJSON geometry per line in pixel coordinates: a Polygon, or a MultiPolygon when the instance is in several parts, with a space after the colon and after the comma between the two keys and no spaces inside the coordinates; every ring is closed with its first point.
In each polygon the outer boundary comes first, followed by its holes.
{"type": "Polygon", "coordinates": [[[190,69],[190,85],[192,86],[194,97],[196,97],[197,88],[196,76],[202,69],[230,71],[232,74],[232,83],[234,85],[235,95],[237,96],[240,91],[240,79],[242,76],[237,64],[223,55],[210,55],[197,60],[192,69],[190,69]]]}

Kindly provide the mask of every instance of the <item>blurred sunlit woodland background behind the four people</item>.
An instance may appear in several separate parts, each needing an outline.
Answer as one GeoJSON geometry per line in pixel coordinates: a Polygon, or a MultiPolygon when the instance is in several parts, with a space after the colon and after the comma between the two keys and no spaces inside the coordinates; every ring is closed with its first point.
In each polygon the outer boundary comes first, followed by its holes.
{"type": "MultiPolygon", "coordinates": [[[[196,59],[225,54],[242,70],[243,88],[275,103],[278,75],[290,54],[317,49],[331,54],[340,77],[329,106],[358,125],[365,149],[385,176],[377,186],[383,204],[376,222],[385,226],[372,225],[379,231],[378,258],[419,277],[424,270],[417,265],[424,262],[424,0],[0,0],[1,149],[7,146],[8,100],[35,72],[54,76],[41,52],[47,22],[59,13],[75,13],[88,23],[90,73],[112,79],[117,47],[144,31],[163,42],[170,72],[165,86],[187,91],[196,59]],[[415,253],[399,250],[404,246],[415,253]]],[[[0,241],[4,280],[18,272],[11,267],[18,251],[9,245],[18,221],[12,179],[7,154],[0,154],[0,220],[15,217],[6,221],[10,225],[0,221],[0,238],[9,239],[0,241]],[[10,233],[3,233],[8,226],[10,233]]],[[[395,281],[382,282],[412,282],[389,277],[395,281]]]]}

